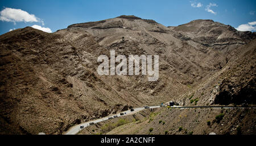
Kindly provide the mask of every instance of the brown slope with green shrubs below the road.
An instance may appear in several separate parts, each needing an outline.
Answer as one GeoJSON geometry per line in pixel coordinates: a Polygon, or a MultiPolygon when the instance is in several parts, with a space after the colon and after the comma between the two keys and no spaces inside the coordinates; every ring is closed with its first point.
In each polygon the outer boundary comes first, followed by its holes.
{"type": "Polygon", "coordinates": [[[84,128],[79,134],[208,135],[214,132],[217,135],[255,135],[255,114],[256,110],[251,109],[162,107],[97,123],[84,128]]]}

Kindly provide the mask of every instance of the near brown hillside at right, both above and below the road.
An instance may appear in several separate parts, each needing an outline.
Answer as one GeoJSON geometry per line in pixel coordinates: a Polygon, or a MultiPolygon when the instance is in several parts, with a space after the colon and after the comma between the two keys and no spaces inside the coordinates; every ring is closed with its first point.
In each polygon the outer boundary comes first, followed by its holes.
{"type": "MultiPolygon", "coordinates": [[[[236,59],[202,81],[183,97],[174,98],[186,106],[255,105],[256,41],[242,47],[236,59]]],[[[161,135],[255,135],[255,109],[168,109],[144,110],[125,118],[86,127],[79,134],[161,134],[161,135]]]]}

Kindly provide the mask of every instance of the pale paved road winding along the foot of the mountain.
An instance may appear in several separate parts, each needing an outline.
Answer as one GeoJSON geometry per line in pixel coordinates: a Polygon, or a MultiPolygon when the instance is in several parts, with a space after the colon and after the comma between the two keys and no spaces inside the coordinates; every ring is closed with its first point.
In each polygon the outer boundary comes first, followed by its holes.
{"type": "MultiPolygon", "coordinates": [[[[160,106],[148,106],[149,109],[155,109],[155,108],[159,108],[160,106]]],[[[172,108],[175,108],[175,109],[189,109],[189,108],[212,108],[212,109],[256,109],[255,106],[253,107],[234,107],[234,106],[172,106],[172,108]]],[[[139,108],[135,108],[134,111],[130,111],[130,110],[127,110],[127,111],[122,111],[122,113],[126,113],[124,115],[120,115],[120,112],[115,114],[117,115],[118,117],[119,116],[126,116],[126,115],[130,115],[130,114],[134,114],[136,112],[139,112],[139,111],[142,111],[144,110],[145,108],[144,107],[139,107],[139,108]]],[[[113,117],[114,115],[111,115],[111,117],[113,117]]],[[[104,118],[101,118],[101,119],[96,119],[96,120],[91,120],[91,121],[88,121],[88,122],[85,122],[85,123],[81,123],[81,124],[77,124],[71,128],[69,128],[69,130],[67,132],[64,132],[64,135],[75,135],[77,134],[80,130],[82,130],[83,128],[80,128],[80,126],[84,126],[87,127],[89,126],[90,122],[93,122],[94,124],[95,123],[98,123],[98,122],[102,122],[102,121],[105,121],[105,120],[109,120],[109,116],[106,116],[104,118]]]]}

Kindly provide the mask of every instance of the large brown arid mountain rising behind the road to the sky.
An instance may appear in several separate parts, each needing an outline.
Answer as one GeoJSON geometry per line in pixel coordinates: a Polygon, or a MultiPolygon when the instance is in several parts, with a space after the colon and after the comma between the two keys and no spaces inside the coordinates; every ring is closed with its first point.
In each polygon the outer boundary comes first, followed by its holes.
{"type": "Polygon", "coordinates": [[[255,104],[255,36],[212,20],[166,27],[125,15],[52,34],[31,27],[7,32],[0,36],[0,134],[61,134],[73,124],[170,100],[255,104]],[[100,76],[97,58],[110,50],[159,55],[158,81],[100,76]]]}

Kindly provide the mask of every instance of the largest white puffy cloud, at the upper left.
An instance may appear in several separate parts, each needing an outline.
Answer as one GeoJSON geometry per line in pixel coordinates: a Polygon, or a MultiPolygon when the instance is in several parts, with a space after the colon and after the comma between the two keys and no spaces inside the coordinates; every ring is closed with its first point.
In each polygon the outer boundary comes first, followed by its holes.
{"type": "Polygon", "coordinates": [[[26,11],[20,9],[12,9],[6,7],[0,12],[0,20],[6,22],[42,22],[39,18],[37,18],[34,14],[29,14],[26,11]]]}

